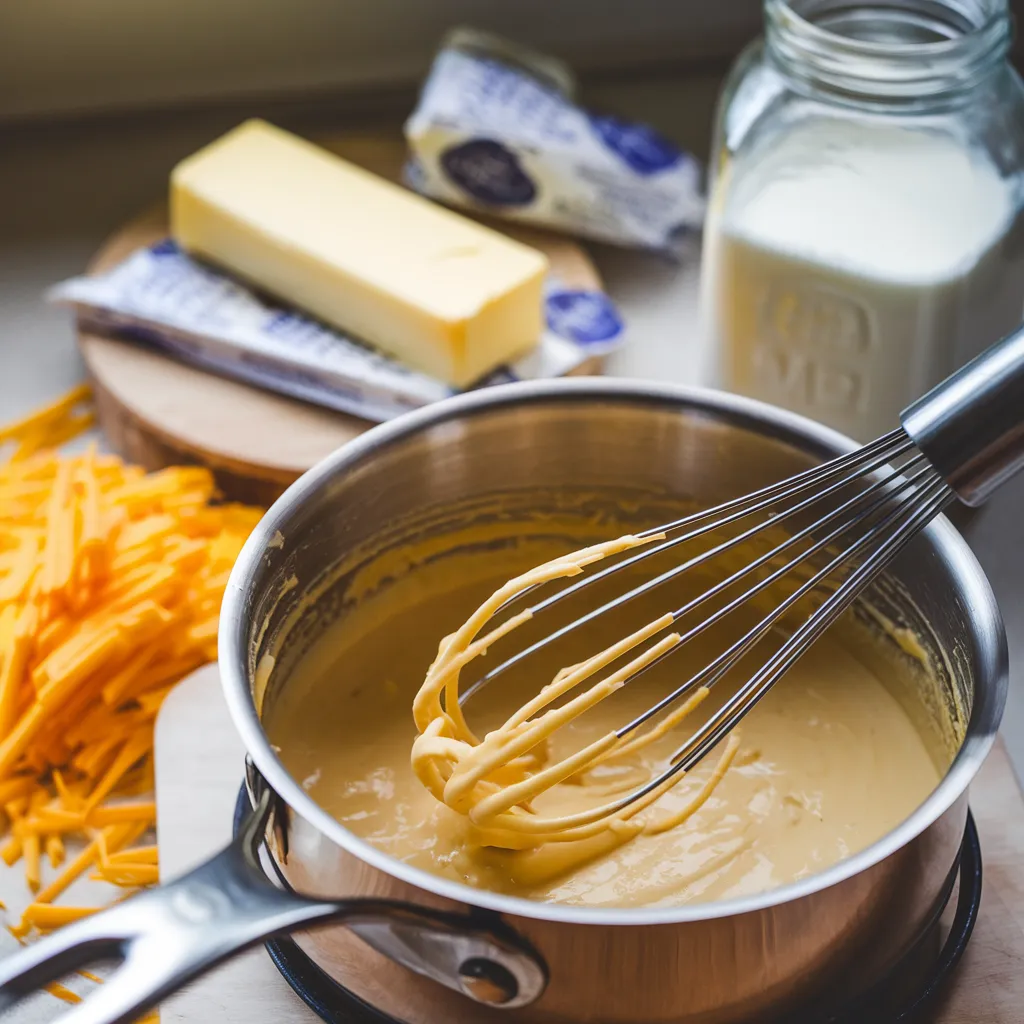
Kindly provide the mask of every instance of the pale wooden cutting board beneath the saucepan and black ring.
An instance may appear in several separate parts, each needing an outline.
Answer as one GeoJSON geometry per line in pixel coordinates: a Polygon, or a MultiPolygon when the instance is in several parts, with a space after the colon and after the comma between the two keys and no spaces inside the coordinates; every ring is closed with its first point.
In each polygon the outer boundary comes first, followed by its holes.
{"type": "MultiPolygon", "coordinates": [[[[216,666],[183,681],[157,723],[161,874],[174,878],[227,843],[243,748],[216,666]]],[[[1024,1019],[1024,799],[1001,741],[971,790],[984,891],[974,936],[938,1013],[927,1024],[1019,1024],[1024,1019]]],[[[262,948],[165,1002],[164,1024],[316,1024],[262,948]]],[[[467,1024],[472,1018],[467,1017],[467,1024]]],[[[514,1016],[509,1017],[509,1024],[514,1016]]],[[[864,1024],[870,1024],[865,1021],[864,1024]]]]}

